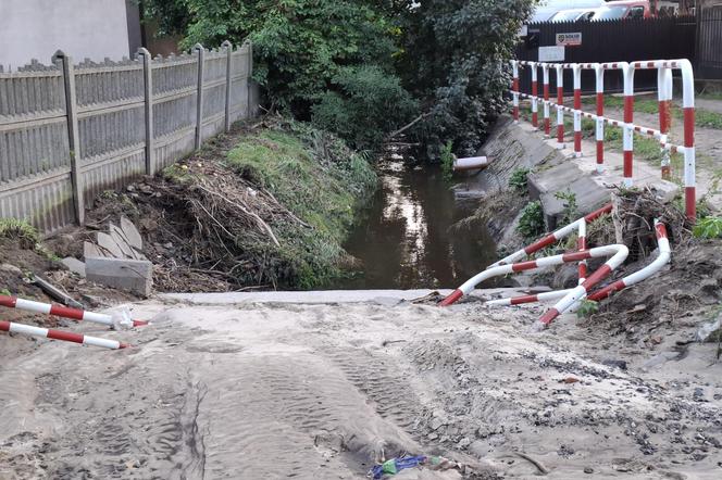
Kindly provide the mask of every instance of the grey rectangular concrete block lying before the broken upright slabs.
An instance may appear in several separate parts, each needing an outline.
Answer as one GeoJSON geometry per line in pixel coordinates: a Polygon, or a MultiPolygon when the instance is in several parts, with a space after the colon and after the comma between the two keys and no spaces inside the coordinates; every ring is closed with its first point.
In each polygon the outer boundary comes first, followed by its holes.
{"type": "Polygon", "coordinates": [[[142,260],[86,258],[88,280],[149,296],[153,287],[153,264],[142,260]]]}

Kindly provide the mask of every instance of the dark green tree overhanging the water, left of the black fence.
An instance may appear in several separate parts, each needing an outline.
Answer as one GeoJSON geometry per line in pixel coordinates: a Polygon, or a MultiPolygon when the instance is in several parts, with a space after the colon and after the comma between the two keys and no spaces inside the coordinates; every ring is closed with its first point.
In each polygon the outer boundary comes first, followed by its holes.
{"type": "Polygon", "coordinates": [[[409,1],[402,10],[404,54],[399,71],[428,117],[415,135],[438,159],[451,141],[458,154],[481,147],[507,104],[509,60],[534,0],[409,1]]]}

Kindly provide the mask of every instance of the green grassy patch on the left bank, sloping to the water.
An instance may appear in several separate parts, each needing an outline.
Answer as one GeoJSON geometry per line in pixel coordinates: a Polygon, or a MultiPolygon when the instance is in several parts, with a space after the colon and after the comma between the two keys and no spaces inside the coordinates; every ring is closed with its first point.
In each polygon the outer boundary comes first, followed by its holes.
{"type": "Polygon", "coordinates": [[[307,124],[249,135],[228,153],[227,164],[269,190],[301,223],[274,223],[281,247],[248,241],[239,245],[263,256],[279,285],[311,289],[341,275],[343,241],[358,204],[376,186],[366,160],[337,137],[307,124]]]}

